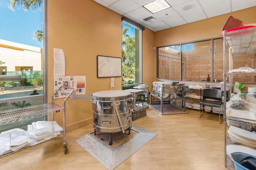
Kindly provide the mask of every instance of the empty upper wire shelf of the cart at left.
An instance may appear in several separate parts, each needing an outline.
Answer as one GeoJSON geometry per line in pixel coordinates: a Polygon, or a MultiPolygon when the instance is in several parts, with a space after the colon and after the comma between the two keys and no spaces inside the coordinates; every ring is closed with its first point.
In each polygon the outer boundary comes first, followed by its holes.
{"type": "Polygon", "coordinates": [[[20,121],[40,115],[47,115],[48,113],[56,113],[64,110],[64,107],[54,103],[40,104],[35,106],[21,107],[0,111],[0,125],[20,121]]]}

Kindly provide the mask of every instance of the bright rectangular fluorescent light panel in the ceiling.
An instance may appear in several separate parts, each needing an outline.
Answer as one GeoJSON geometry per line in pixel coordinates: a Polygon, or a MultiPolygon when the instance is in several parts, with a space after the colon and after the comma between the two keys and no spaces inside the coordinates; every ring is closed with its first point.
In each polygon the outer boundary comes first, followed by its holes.
{"type": "Polygon", "coordinates": [[[143,7],[149,10],[152,14],[154,14],[167,8],[171,8],[172,6],[170,6],[165,0],[155,0],[144,5],[143,7]]]}

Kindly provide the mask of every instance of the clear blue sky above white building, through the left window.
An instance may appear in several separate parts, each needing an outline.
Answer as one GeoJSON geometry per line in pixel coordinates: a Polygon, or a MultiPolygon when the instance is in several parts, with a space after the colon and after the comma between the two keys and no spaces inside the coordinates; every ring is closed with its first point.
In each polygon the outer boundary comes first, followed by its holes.
{"type": "Polygon", "coordinates": [[[43,30],[42,11],[28,12],[15,8],[14,12],[8,8],[10,0],[0,0],[0,39],[16,43],[41,47],[33,33],[43,30]]]}

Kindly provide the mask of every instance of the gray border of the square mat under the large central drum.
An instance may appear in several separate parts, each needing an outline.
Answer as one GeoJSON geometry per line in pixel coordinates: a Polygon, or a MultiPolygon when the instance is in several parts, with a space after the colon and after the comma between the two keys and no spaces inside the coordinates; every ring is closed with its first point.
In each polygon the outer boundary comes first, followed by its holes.
{"type": "MultiPolygon", "coordinates": [[[[98,139],[92,135],[93,132],[80,137],[76,142],[108,170],[113,170],[158,135],[136,125],[132,125],[131,131],[136,131],[136,134],[134,133],[131,138],[118,143],[116,147],[111,147],[112,145],[110,146],[106,142],[98,139]]],[[[114,136],[112,138],[114,145],[114,136]]]]}

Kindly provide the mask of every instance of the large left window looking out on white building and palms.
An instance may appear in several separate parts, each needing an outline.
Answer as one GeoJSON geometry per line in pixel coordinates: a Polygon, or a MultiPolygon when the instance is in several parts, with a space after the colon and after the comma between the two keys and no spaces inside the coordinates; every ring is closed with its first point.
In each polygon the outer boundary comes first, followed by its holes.
{"type": "MultiPolygon", "coordinates": [[[[47,102],[44,84],[40,88],[35,86],[46,76],[43,48],[46,3],[44,0],[0,1],[0,75],[22,76],[21,80],[12,81],[0,76],[0,111],[47,102]]],[[[34,117],[0,125],[0,132],[14,127],[26,130],[27,124],[43,119],[34,117]]]]}

